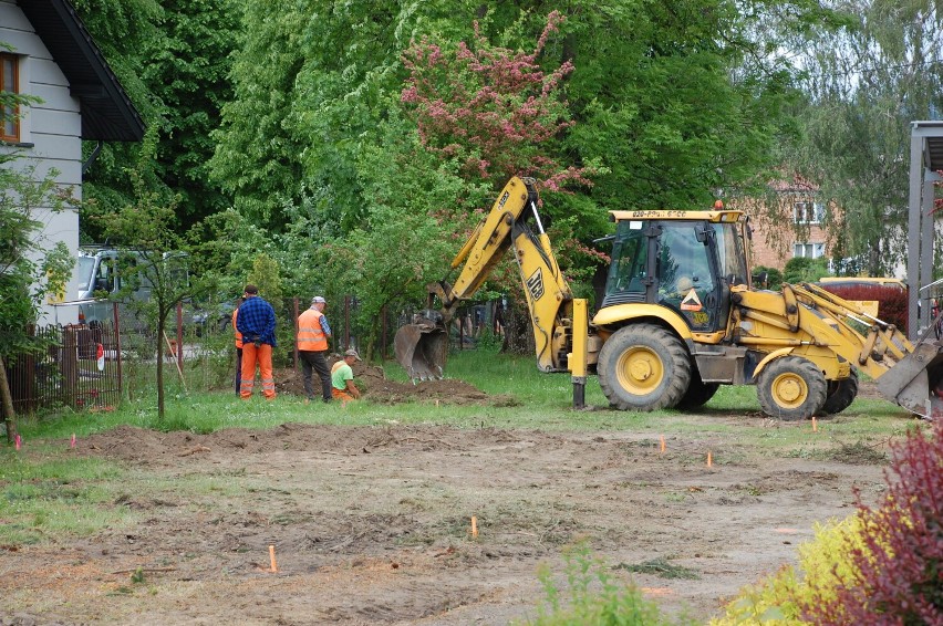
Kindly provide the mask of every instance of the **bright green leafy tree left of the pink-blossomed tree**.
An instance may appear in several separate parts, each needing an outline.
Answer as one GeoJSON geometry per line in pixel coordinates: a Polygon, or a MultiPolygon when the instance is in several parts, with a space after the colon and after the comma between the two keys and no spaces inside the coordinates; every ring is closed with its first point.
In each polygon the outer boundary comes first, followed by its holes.
{"type": "Polygon", "coordinates": [[[280,231],[290,207],[305,204],[340,232],[356,228],[369,201],[359,161],[381,145],[390,96],[405,77],[402,51],[428,32],[454,35],[457,23],[470,32],[478,8],[470,0],[249,0],[235,96],[211,161],[239,212],[280,231]]]}

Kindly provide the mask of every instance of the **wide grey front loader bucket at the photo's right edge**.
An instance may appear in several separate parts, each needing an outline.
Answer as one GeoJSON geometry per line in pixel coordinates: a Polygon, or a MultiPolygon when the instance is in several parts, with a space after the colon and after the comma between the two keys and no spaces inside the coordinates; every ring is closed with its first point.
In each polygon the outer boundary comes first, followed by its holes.
{"type": "Polygon", "coordinates": [[[943,344],[924,342],[877,379],[885,398],[926,419],[943,418],[943,344]]]}

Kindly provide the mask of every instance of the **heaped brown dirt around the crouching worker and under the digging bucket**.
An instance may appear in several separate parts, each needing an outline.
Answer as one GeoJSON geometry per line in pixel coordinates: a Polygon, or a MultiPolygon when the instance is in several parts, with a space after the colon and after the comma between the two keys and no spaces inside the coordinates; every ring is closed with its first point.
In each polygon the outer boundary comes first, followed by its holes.
{"type": "MultiPolygon", "coordinates": [[[[328,359],[328,364],[333,365],[336,361],[338,357],[332,356],[328,359]]],[[[352,367],[354,384],[363,393],[363,397],[377,404],[394,405],[408,401],[494,406],[514,406],[516,404],[511,396],[490,396],[464,380],[445,378],[442,380],[419,380],[415,384],[397,383],[388,380],[381,367],[367,365],[363,362],[356,362],[352,367]]],[[[318,389],[317,374],[314,377],[314,387],[318,389]]],[[[274,379],[276,390],[279,394],[304,396],[300,369],[277,369],[274,379]]]]}

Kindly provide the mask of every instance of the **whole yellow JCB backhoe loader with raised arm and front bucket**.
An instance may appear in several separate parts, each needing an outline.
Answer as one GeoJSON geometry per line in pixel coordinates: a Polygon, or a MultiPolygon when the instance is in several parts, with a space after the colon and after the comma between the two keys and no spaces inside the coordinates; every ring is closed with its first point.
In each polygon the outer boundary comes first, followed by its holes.
{"type": "Polygon", "coordinates": [[[537,206],[535,181],[512,178],[453,260],[462,268],[455,283],[428,286],[428,309],[395,337],[411,377],[442,376],[454,313],[514,248],[538,368],[571,372],[579,388],[594,366],[620,409],[693,409],[719,385],[756,385],[767,415],[804,419],[846,409],[861,371],[891,401],[925,418],[943,414],[943,349],[926,334],[913,344],[816,285],[752,289],[743,212],[610,211],[605,293],[586,323],[537,206]]]}

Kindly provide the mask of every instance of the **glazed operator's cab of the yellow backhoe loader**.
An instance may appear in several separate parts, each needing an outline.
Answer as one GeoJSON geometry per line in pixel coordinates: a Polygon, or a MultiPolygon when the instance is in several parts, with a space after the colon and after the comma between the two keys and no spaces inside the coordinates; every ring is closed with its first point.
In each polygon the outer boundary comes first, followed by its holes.
{"type": "Polygon", "coordinates": [[[616,222],[602,307],[657,304],[692,332],[722,331],[730,288],[747,284],[740,211],[611,211],[616,222]]]}

